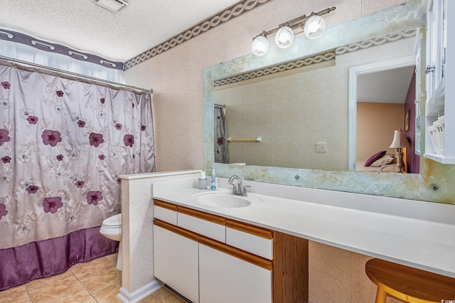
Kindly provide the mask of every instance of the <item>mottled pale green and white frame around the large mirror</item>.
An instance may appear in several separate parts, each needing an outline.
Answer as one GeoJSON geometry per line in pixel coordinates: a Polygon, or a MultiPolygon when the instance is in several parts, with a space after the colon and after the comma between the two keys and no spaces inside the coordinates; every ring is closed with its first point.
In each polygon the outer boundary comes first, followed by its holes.
{"type": "MultiPolygon", "coordinates": [[[[208,174],[215,169],[217,176],[229,178],[237,174],[242,179],[272,184],[319,188],[350,193],[363,193],[374,196],[407,198],[410,200],[453,203],[455,184],[453,168],[427,158],[420,158],[420,174],[375,174],[355,171],[321,171],[311,169],[288,169],[274,166],[237,166],[214,162],[214,83],[215,80],[232,77],[259,68],[304,58],[324,50],[348,46],[350,43],[365,41],[409,29],[418,28],[417,49],[424,57],[426,7],[421,1],[412,0],[405,5],[394,6],[370,16],[358,18],[347,23],[328,28],[317,41],[296,38],[291,48],[271,48],[263,57],[252,54],[213,65],[204,70],[204,169],[208,174]],[[384,21],[384,22],[379,22],[384,21]],[[357,31],[362,28],[362,31],[357,31]]],[[[425,100],[425,62],[417,58],[419,83],[418,99],[425,100]]],[[[420,114],[424,116],[424,102],[420,102],[420,114]]],[[[425,127],[421,127],[424,133],[425,127]]],[[[424,135],[421,134],[421,138],[424,135]]],[[[424,146],[421,142],[421,146],[424,146]]],[[[421,152],[423,154],[423,152],[421,152]]]]}

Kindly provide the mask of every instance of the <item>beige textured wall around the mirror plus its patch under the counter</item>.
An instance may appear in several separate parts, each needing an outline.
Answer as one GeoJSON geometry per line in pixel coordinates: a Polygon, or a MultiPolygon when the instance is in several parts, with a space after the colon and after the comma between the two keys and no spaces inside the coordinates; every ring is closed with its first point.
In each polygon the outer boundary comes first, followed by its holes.
{"type": "MultiPolygon", "coordinates": [[[[127,70],[127,83],[154,88],[157,170],[203,169],[204,68],[250,53],[252,37],[302,14],[336,6],[325,18],[330,27],[401,2],[274,0],[127,70]]],[[[367,260],[311,243],[310,301],[373,302],[375,287],[363,269],[367,260]]]]}

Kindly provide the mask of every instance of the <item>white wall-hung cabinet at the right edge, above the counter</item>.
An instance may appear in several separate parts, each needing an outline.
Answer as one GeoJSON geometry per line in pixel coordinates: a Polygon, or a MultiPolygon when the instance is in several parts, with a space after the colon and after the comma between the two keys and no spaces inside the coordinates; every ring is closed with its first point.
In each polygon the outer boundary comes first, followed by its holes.
{"type": "Polygon", "coordinates": [[[424,156],[455,164],[455,2],[427,0],[424,156]]]}

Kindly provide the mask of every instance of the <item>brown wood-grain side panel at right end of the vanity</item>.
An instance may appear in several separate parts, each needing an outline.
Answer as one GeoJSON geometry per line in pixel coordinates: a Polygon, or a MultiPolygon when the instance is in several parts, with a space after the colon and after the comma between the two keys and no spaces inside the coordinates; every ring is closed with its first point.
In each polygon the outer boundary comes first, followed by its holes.
{"type": "Polygon", "coordinates": [[[273,238],[273,302],[308,302],[308,240],[277,231],[273,238]]]}

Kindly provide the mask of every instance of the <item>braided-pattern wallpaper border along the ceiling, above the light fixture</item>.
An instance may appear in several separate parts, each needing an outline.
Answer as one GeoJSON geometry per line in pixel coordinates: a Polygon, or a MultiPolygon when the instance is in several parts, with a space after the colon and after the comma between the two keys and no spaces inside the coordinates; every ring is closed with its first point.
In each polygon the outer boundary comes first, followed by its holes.
{"type": "Polygon", "coordinates": [[[135,58],[132,58],[124,63],[124,70],[128,68],[132,68],[134,65],[137,65],[145,60],[153,58],[160,53],[164,53],[166,50],[170,50],[171,48],[180,45],[186,41],[191,40],[199,36],[202,33],[210,31],[210,29],[215,28],[216,26],[220,26],[221,24],[232,20],[242,14],[247,13],[248,11],[252,11],[263,4],[269,3],[273,0],[242,0],[229,6],[228,9],[224,11],[220,11],[218,14],[206,18],[204,21],[196,24],[192,28],[188,28],[186,31],[178,33],[176,36],[160,43],[158,46],[146,50],[144,53],[137,55],[135,58]]]}

